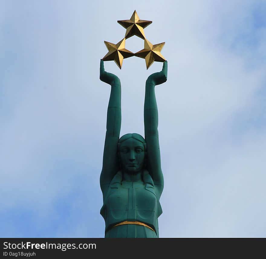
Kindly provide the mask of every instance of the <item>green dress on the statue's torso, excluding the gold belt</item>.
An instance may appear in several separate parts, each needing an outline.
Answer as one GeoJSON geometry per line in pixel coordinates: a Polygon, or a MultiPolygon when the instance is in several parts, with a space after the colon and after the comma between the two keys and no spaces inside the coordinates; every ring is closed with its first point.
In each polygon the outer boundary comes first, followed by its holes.
{"type": "MultiPolygon", "coordinates": [[[[158,217],[162,213],[157,187],[148,173],[144,171],[143,181],[129,182],[122,180],[119,171],[108,187],[100,211],[105,220],[105,238],[157,238],[158,217]],[[124,221],[137,221],[144,225],[116,224],[124,221]],[[115,227],[114,227],[115,226],[115,227]]],[[[104,193],[103,193],[104,194],[104,193]]]]}

